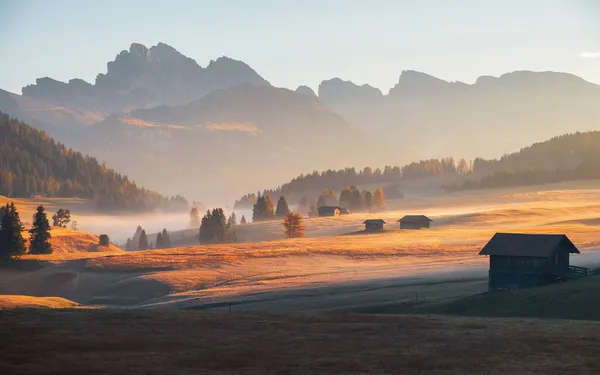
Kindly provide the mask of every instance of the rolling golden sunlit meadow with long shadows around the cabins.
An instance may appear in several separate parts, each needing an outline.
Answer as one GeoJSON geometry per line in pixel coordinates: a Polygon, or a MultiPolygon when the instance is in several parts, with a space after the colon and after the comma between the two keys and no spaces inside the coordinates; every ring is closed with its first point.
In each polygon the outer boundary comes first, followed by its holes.
{"type": "MultiPolygon", "coordinates": [[[[477,253],[496,232],[565,233],[584,255],[600,248],[599,181],[534,189],[421,196],[389,202],[384,213],[306,219],[303,239],[281,239],[281,223],[273,221],[236,228],[238,237],[256,242],[90,252],[95,236],[58,230],[53,243],[61,250],[23,257],[42,262],[39,270],[0,271],[0,294],[152,308],[242,301],[238,308],[287,311],[415,293],[477,293],[487,275],[487,259],[477,253]],[[433,227],[397,229],[400,217],[417,213],[430,216],[433,227]],[[375,217],[386,220],[386,230],[361,233],[362,221],[375,217]],[[453,282],[439,284],[444,278],[453,282]],[[432,280],[437,284],[430,285],[432,280]],[[298,296],[305,302],[294,299],[298,296]]],[[[574,256],[573,262],[578,259],[581,264],[590,258],[574,256]]]]}

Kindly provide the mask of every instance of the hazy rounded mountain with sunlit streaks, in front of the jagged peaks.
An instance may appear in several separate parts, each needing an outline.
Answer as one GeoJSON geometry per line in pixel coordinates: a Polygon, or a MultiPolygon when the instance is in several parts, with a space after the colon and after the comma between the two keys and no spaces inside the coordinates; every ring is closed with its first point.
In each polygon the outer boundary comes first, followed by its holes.
{"type": "Polygon", "coordinates": [[[137,181],[205,202],[323,166],[414,157],[348,125],[314,97],[252,84],[111,116],[87,129],[80,147],[137,181]]]}

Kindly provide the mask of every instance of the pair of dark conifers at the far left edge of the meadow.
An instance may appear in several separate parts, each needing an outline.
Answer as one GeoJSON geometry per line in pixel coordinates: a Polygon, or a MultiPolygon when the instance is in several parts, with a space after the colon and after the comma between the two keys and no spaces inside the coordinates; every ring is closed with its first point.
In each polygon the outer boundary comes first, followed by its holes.
{"type": "MultiPolygon", "coordinates": [[[[52,253],[51,229],[44,206],[38,206],[29,230],[29,253],[52,253]]],[[[26,251],[27,241],[23,238],[23,223],[15,204],[0,207],[0,264],[8,264],[26,251]]]]}

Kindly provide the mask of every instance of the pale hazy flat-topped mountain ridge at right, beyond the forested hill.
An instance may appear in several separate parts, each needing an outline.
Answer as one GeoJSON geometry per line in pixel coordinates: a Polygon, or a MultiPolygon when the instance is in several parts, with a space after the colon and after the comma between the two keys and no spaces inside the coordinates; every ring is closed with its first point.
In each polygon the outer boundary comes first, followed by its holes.
{"type": "Polygon", "coordinates": [[[497,157],[557,134],[600,129],[600,86],[520,71],[472,84],[404,71],[387,95],[333,79],[319,99],[351,124],[427,156],[497,157]]]}

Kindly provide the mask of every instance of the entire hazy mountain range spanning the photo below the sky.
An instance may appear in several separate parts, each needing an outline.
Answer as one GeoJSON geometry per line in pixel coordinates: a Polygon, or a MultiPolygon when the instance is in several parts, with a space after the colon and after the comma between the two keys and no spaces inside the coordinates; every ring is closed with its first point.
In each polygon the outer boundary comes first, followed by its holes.
{"type": "Polygon", "coordinates": [[[273,87],[247,64],[203,68],[174,48],[132,44],[93,84],[48,77],[0,90],[0,110],[167,194],[238,196],[313,169],[415,158],[497,157],[600,129],[600,86],[520,71],[474,84],[403,71],[387,93],[340,78],[315,93],[273,87]]]}

